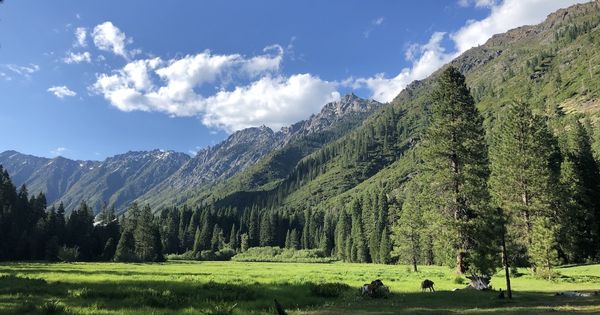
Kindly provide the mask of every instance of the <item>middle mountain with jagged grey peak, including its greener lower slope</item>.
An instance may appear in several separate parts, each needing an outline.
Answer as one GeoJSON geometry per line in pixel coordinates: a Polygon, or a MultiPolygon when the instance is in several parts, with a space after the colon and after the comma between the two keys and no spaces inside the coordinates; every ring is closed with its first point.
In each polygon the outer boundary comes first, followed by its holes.
{"type": "Polygon", "coordinates": [[[197,202],[216,191],[226,194],[273,184],[285,178],[301,158],[358,126],[380,106],[349,94],[278,132],[267,127],[235,132],[218,145],[200,151],[140,200],[155,207],[168,206],[197,202]]]}

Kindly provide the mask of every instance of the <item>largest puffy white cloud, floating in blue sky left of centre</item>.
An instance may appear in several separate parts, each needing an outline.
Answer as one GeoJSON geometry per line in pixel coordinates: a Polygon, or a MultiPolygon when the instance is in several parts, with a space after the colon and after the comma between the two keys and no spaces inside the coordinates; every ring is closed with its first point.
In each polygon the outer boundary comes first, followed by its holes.
{"type": "Polygon", "coordinates": [[[279,75],[281,46],[263,52],[245,57],[206,50],[170,60],[134,60],[98,75],[90,89],[122,111],[198,116],[205,125],[228,132],[258,125],[280,128],[339,98],[334,82],[310,74],[279,75]],[[243,83],[228,88],[232,82],[243,83]],[[215,86],[219,90],[211,92],[215,86]]]}

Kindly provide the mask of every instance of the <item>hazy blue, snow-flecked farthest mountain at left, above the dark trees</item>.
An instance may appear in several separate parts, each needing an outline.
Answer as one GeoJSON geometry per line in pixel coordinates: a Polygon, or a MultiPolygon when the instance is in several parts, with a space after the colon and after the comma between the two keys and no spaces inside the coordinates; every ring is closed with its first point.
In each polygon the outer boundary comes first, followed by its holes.
{"type": "Polygon", "coordinates": [[[44,192],[49,204],[63,202],[68,211],[86,200],[95,210],[107,202],[122,208],[178,170],[189,156],[172,151],[128,152],[97,161],[73,161],[0,153],[0,164],[18,185],[44,192]]]}

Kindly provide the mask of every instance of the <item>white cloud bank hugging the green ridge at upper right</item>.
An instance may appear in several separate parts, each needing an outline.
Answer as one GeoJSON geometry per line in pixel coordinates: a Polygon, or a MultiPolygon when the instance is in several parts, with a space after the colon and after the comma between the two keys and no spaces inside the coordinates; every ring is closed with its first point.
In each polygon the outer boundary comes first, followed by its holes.
{"type": "Polygon", "coordinates": [[[424,45],[409,45],[405,58],[412,64],[402,69],[398,75],[390,78],[380,73],[370,78],[358,78],[353,81],[353,86],[366,87],[371,90],[372,98],[389,102],[410,82],[427,77],[466,50],[484,44],[492,35],[518,26],[540,23],[548,14],[560,8],[583,2],[589,0],[504,0],[501,3],[493,0],[459,1],[459,4],[488,7],[490,14],[479,21],[467,21],[462,28],[449,35],[435,32],[424,45]],[[444,38],[453,42],[452,51],[443,48],[444,38]]]}

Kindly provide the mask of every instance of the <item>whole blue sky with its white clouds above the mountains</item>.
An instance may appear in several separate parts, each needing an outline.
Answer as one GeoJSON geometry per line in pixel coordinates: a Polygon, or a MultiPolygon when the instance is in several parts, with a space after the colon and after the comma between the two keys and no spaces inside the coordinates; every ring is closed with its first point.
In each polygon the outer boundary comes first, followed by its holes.
{"type": "Polygon", "coordinates": [[[100,160],[385,102],[581,0],[34,1],[0,6],[0,151],[100,160]]]}

